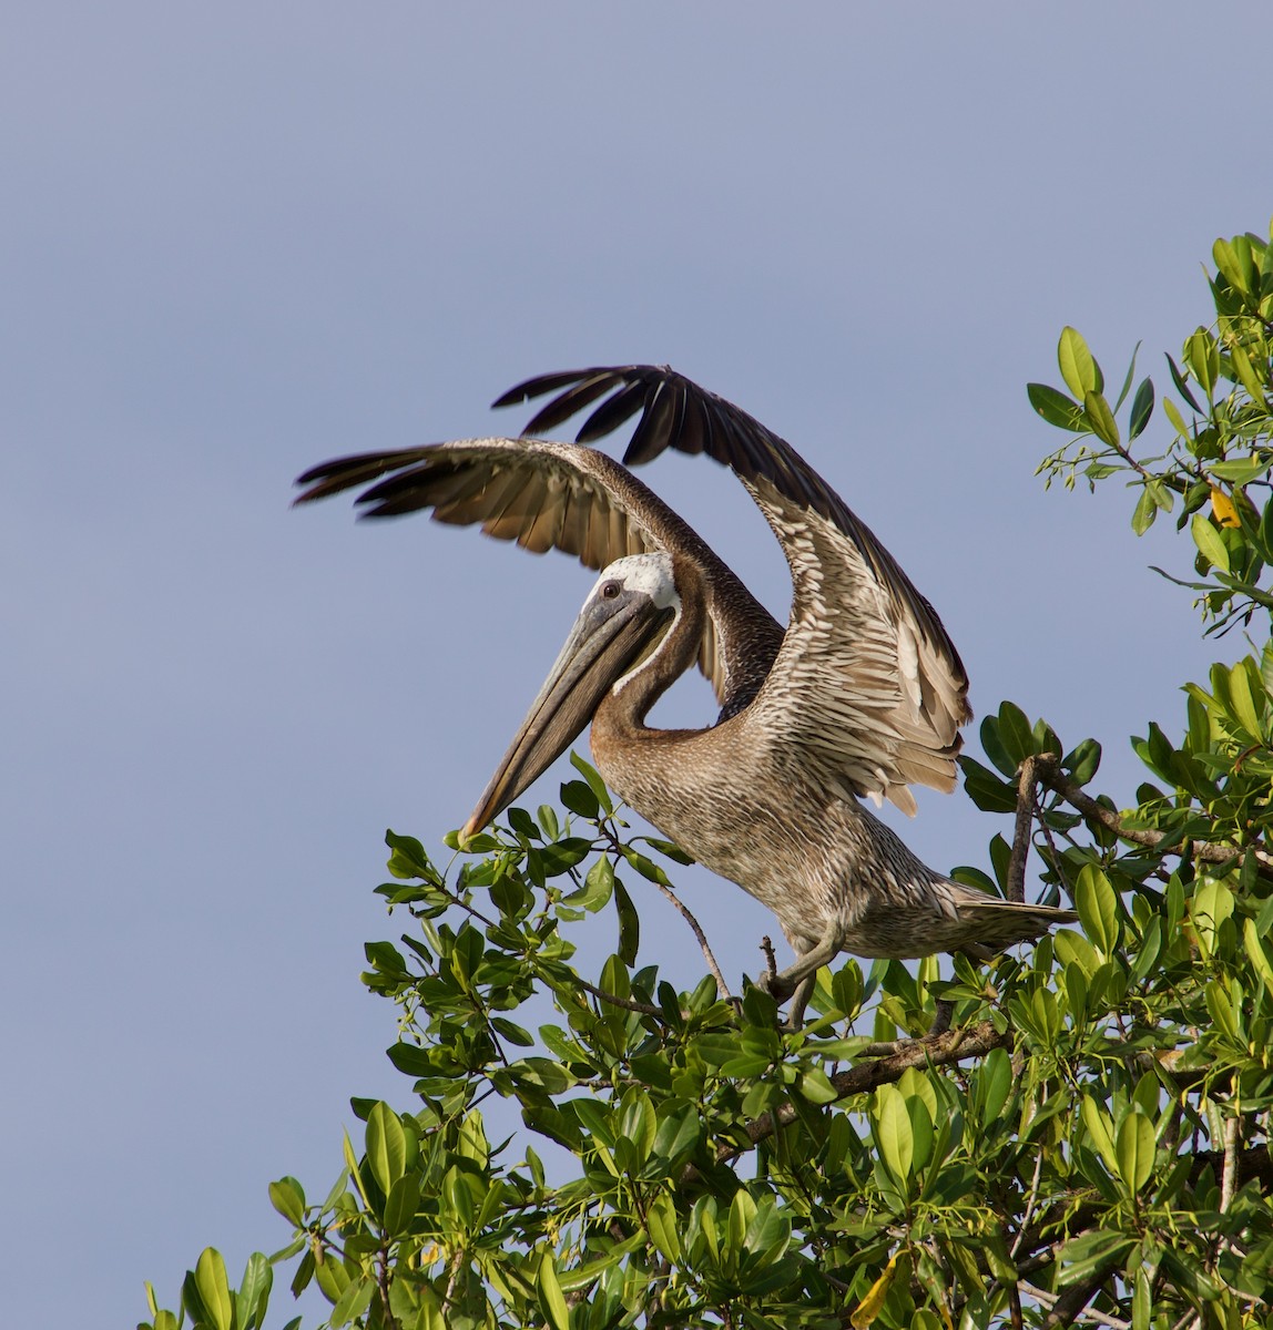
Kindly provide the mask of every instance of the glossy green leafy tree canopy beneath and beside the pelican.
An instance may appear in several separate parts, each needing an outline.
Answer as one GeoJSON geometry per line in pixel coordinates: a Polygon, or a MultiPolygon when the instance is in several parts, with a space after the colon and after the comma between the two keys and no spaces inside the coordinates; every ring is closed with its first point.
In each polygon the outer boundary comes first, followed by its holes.
{"type": "Polygon", "coordinates": [[[146,1325],[261,1327],[279,1267],[333,1327],[1270,1323],[1273,247],[1213,259],[1168,395],[1133,356],[1111,402],[1068,327],[1065,391],[1030,386],[1071,435],[1047,481],[1121,476],[1137,532],[1188,532],[1206,632],[1253,638],[1132,739],[1147,779],[1121,801],[1095,741],[1011,702],[983,722],[966,787],[1011,825],[956,875],[1019,898],[1034,851],[1081,931],[948,982],[845,959],[785,1033],[761,991],[677,992],[642,962],[623,875],[670,890],[660,861],[684,861],[581,759],[564,813],[513,809],[444,871],[390,833],[376,891],[410,927],[367,944],[363,982],[398,1008],[410,1107],[355,1100],[323,1200],[270,1184],[283,1250],[235,1287],[209,1248],[180,1314],[148,1286],[146,1325]],[[617,942],[588,978],[593,915],[617,942]],[[509,1140],[492,1097],[520,1109],[509,1140]]]}

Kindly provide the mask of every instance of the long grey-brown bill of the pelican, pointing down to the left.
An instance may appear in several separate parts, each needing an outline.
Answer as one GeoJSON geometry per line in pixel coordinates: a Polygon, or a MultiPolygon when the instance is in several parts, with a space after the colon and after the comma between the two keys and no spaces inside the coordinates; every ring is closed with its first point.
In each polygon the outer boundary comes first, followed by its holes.
{"type": "Polygon", "coordinates": [[[497,818],[579,738],[605,694],[649,654],[672,617],[670,609],[627,591],[617,600],[584,605],[462,838],[497,818]]]}

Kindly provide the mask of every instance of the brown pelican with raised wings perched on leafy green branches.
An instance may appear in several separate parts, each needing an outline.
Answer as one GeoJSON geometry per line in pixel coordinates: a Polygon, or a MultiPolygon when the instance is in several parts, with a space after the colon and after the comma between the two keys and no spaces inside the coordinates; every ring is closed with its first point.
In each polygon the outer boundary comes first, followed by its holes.
{"type": "Polygon", "coordinates": [[[988,956],[1069,922],[923,864],[859,802],[915,811],[914,783],[955,783],[967,676],[932,606],[839,496],[778,435],[672,370],[544,375],[496,406],[560,392],[545,432],[604,398],[579,442],[463,439],[323,463],[298,503],[379,480],[364,516],[432,509],[601,576],[464,827],[497,817],[592,722],[607,782],[664,835],[766,904],[797,952],[790,995],[839,951],[988,956]],[[564,390],[564,391],[561,391],[564,390]],[[640,412],[624,456],[706,452],[738,475],[791,572],[786,630],[665,503],[584,447],[640,412]],[[645,725],[697,660],[721,712],[701,730],[645,725]]]}

